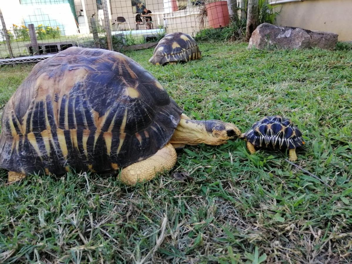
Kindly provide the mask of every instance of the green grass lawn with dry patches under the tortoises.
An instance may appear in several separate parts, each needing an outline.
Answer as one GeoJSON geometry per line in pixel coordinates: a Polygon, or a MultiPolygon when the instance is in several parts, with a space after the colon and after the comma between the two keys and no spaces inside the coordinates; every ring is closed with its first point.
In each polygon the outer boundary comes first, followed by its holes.
{"type": "MultiPolygon", "coordinates": [[[[195,119],[241,131],[265,115],[301,129],[300,168],[245,142],[186,147],[174,169],[127,187],[115,177],[0,170],[0,262],[349,263],[352,253],[352,50],[247,50],[201,44],[203,58],[153,66],[127,53],[195,119]],[[307,170],[312,175],[304,172],[307,170]],[[174,172],[188,172],[177,181],[174,172]]],[[[33,65],[0,68],[3,107],[33,65]]]]}

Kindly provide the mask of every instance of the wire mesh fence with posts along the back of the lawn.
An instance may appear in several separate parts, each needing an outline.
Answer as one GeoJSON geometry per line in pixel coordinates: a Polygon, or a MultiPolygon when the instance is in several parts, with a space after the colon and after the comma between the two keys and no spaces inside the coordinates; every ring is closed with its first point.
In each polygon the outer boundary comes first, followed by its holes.
{"type": "Polygon", "coordinates": [[[167,33],[195,37],[245,18],[246,0],[2,1],[0,59],[55,54],[71,46],[120,51],[167,33]]]}

